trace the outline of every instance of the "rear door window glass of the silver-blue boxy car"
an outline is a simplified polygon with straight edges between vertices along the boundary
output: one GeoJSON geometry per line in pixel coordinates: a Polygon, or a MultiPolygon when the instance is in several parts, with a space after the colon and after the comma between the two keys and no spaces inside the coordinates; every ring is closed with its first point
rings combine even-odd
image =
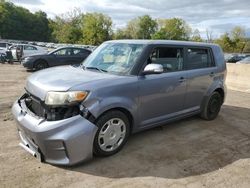
{"type": "Polygon", "coordinates": [[[188,48],[187,58],[187,69],[201,69],[214,66],[209,49],[188,48]]]}

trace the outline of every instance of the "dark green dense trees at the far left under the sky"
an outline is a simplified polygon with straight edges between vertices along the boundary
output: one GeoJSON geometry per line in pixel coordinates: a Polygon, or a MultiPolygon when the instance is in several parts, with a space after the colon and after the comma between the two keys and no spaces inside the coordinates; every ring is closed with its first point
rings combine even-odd
{"type": "Polygon", "coordinates": [[[0,25],[0,37],[5,39],[48,41],[51,34],[46,13],[32,14],[4,0],[0,1],[0,25]]]}

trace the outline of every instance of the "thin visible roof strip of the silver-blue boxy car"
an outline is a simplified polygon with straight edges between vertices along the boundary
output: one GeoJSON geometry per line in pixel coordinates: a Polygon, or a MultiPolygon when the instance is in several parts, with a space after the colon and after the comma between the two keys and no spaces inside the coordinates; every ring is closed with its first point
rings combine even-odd
{"type": "Polygon", "coordinates": [[[213,43],[204,43],[204,42],[191,42],[191,41],[177,41],[177,40],[110,40],[105,43],[127,43],[127,44],[145,44],[145,45],[151,45],[151,44],[168,44],[168,45],[187,45],[187,46],[218,46],[217,44],[213,43]]]}

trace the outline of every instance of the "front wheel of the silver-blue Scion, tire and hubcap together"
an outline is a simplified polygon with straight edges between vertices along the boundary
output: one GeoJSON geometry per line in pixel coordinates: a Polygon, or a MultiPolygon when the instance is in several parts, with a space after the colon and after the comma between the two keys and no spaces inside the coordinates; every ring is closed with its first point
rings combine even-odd
{"type": "Polygon", "coordinates": [[[118,110],[109,111],[98,118],[96,125],[98,131],[94,139],[94,154],[109,156],[120,151],[130,132],[127,116],[118,110]]]}

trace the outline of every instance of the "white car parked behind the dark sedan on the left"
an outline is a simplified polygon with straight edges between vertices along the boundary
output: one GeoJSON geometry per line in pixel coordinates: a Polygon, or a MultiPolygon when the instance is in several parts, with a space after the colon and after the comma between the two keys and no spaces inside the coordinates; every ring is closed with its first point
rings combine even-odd
{"type": "Polygon", "coordinates": [[[22,57],[35,55],[35,54],[48,53],[48,50],[46,48],[43,48],[43,47],[34,46],[34,45],[30,45],[30,44],[14,44],[9,48],[14,60],[18,59],[17,48],[20,48],[22,50],[22,57]]]}

